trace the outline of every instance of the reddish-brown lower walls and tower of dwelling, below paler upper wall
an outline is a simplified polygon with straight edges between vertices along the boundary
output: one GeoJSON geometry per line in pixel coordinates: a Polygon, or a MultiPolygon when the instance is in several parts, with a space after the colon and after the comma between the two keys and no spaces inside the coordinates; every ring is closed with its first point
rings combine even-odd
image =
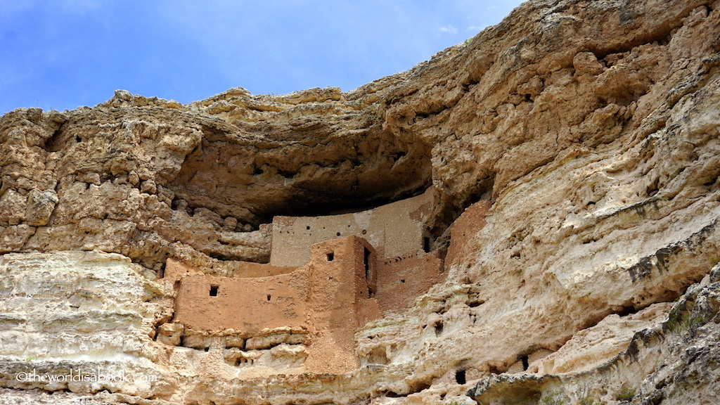
{"type": "Polygon", "coordinates": [[[365,239],[348,236],[313,245],[305,266],[248,263],[235,277],[204,275],[168,259],[165,278],[177,287],[174,321],[196,331],[235,329],[245,337],[300,326],[310,333],[305,370],[346,373],[359,366],[354,335],[360,326],[382,311],[404,310],[444,277],[437,252],[378,255],[365,239]],[[262,277],[274,272],[282,274],[262,277]],[[217,296],[210,295],[212,286],[217,296]]]}

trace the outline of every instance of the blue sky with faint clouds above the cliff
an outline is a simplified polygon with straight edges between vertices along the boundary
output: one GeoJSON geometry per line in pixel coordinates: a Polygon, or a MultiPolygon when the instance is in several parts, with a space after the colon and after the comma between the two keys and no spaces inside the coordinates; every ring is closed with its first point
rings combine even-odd
{"type": "Polygon", "coordinates": [[[520,0],[0,0],[0,114],[115,89],[188,103],[349,91],[500,22],[520,0]]]}

